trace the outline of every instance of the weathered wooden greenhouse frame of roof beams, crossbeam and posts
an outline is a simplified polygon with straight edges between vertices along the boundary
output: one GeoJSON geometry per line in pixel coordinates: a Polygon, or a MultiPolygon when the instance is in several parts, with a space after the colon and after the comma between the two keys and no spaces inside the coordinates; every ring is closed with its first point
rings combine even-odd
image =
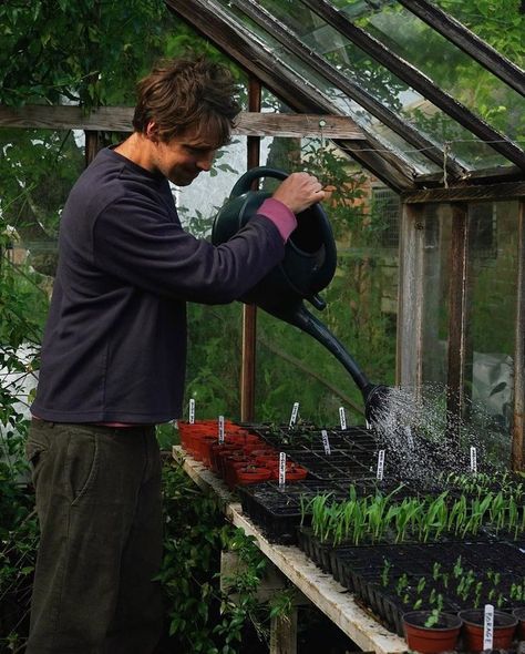
{"type": "MultiPolygon", "coordinates": [[[[444,35],[466,55],[498,78],[516,93],[525,95],[525,72],[503,58],[471,31],[428,0],[399,0],[400,3],[433,30],[444,35]]],[[[329,0],[300,0],[326,24],[352,42],[374,61],[391,71],[411,89],[433,103],[444,114],[467,130],[480,142],[490,144],[508,165],[467,170],[446,146],[430,141],[399,114],[379,102],[359,82],[350,79],[322,55],[317,54],[297,34],[271,16],[256,0],[231,0],[228,4],[243,12],[250,23],[271,33],[279,52],[289,53],[321,75],[333,88],[369,112],[382,125],[398,134],[439,167],[439,173],[419,173],[405,157],[372,130],[344,115],[321,90],[301,78],[284,61],[276,49],[265,45],[255,32],[220,0],[165,0],[166,6],[197,32],[210,40],[249,75],[249,111],[241,114],[238,134],[248,136],[248,167],[259,163],[261,136],[323,135],[354,161],[372,172],[402,202],[400,239],[400,284],[397,343],[397,381],[420,387],[423,382],[422,350],[424,337],[425,269],[424,224],[429,205],[450,205],[452,212],[452,244],[449,287],[449,410],[462,413],[465,403],[465,369],[472,355],[469,347],[470,293],[470,206],[472,203],[515,200],[518,202],[516,320],[514,330],[514,406],[512,468],[525,469],[525,150],[505,134],[472,113],[426,75],[352,22],[329,0]],[[296,114],[261,114],[261,88],[267,88],[292,109],[296,114]]],[[[76,106],[0,108],[0,126],[81,129],[86,134],[86,160],[99,147],[99,131],[131,130],[132,110],[100,108],[84,115],[76,106]]],[[[244,307],[241,419],[254,418],[255,406],[255,308],[244,307]]]]}

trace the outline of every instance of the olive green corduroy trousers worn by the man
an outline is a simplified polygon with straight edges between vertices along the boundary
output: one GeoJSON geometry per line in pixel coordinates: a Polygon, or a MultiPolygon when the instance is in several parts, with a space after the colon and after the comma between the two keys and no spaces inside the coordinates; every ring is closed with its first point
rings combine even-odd
{"type": "Polygon", "coordinates": [[[27,654],[151,654],[162,631],[154,427],[33,420],[41,542],[27,654]]]}

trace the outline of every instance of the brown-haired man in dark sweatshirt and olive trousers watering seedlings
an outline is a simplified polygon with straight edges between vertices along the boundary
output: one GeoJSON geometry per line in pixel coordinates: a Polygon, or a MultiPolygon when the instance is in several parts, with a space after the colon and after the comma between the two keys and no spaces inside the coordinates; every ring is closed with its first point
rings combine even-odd
{"type": "MultiPolygon", "coordinates": [[[[185,233],[184,186],[228,142],[220,65],[178,60],[138,85],[133,134],[99,153],[61,218],[27,453],[41,545],[27,654],[148,654],[161,630],[154,426],[181,416],[186,302],[228,303],[284,256],[321,184],[290,175],[227,244],[185,233]]],[[[205,193],[205,190],[203,190],[205,193]]]]}

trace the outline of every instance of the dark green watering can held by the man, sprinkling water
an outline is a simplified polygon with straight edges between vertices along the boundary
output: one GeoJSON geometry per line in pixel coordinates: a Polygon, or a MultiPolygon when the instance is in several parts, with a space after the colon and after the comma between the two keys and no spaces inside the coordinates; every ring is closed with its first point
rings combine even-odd
{"type": "MultiPolygon", "coordinates": [[[[282,181],[288,177],[288,173],[266,166],[250,168],[245,173],[215,217],[212,231],[214,245],[229,241],[257,213],[262,202],[271,196],[266,191],[251,190],[253,183],[261,177],[282,181]]],[[[308,300],[318,310],[326,307],[318,293],[330,284],[337,266],[336,241],[330,222],[320,204],[310,206],[296,217],[297,228],[285,246],[282,262],[240,300],[255,304],[276,318],[298,327],[331,351],[360,389],[367,420],[373,422],[379,417],[388,388],[369,381],[342,344],[303,303],[308,300]]]]}

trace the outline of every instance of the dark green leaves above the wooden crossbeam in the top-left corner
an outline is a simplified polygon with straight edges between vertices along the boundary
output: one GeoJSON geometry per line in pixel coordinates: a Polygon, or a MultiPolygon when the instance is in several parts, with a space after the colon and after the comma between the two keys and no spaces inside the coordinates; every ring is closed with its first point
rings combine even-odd
{"type": "Polygon", "coordinates": [[[144,55],[159,53],[168,19],[156,0],[3,3],[0,102],[58,104],[65,96],[97,106],[123,86],[131,100],[144,55]]]}

